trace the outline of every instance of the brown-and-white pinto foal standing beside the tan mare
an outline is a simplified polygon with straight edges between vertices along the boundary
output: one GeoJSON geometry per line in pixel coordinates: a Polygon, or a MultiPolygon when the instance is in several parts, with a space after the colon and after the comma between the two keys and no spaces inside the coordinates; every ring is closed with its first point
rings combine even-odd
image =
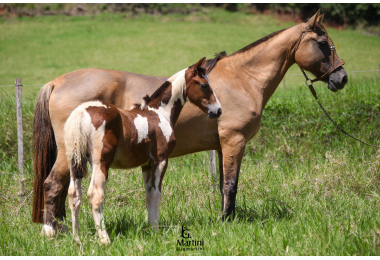
{"type": "Polygon", "coordinates": [[[141,166],[148,221],[157,226],[162,179],[169,154],[176,143],[173,127],[184,103],[189,100],[211,118],[217,118],[222,113],[202,67],[205,61],[202,58],[176,73],[151,97],[146,96],[141,105],[135,105],[129,111],[100,101],[90,101],[70,114],[64,131],[70,165],[68,194],[75,239],[79,234],[81,180],[86,173],[87,160],[92,167],[87,196],[101,243],[110,243],[102,213],[110,167],[129,169],[141,166]]]}

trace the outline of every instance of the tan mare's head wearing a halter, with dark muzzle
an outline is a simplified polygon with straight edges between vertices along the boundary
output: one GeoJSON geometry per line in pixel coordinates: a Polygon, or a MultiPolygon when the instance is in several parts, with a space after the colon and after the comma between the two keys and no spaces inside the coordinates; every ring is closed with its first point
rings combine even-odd
{"type": "Polygon", "coordinates": [[[328,88],[336,92],[343,89],[348,81],[344,61],[335,50],[332,39],[322,26],[323,14],[319,11],[306,23],[301,24],[301,36],[295,46],[294,60],[303,70],[310,71],[318,80],[328,83],[328,88]]]}

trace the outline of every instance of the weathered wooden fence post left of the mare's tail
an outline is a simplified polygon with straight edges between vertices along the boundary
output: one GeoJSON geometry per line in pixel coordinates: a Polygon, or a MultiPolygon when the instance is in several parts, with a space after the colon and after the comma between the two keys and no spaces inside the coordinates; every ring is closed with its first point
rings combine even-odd
{"type": "Polygon", "coordinates": [[[21,79],[16,79],[16,111],[17,111],[17,146],[18,146],[18,169],[19,174],[19,196],[24,196],[24,138],[22,129],[22,98],[21,98],[21,79]]]}

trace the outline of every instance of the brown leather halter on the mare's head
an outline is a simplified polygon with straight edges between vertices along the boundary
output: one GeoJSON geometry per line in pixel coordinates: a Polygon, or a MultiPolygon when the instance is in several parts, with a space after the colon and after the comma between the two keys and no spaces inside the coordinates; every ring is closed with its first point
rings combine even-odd
{"type": "MultiPolygon", "coordinates": [[[[336,53],[336,50],[335,50],[335,45],[334,45],[334,42],[332,41],[332,39],[329,37],[329,35],[327,34],[327,31],[326,29],[323,27],[323,25],[321,24],[316,24],[315,26],[318,26],[318,28],[323,32],[324,36],[327,38],[327,42],[329,43],[330,45],[330,51],[331,51],[331,56],[332,56],[332,62],[330,63],[331,64],[331,68],[325,72],[322,76],[319,76],[315,79],[309,79],[308,77],[306,77],[306,85],[310,85],[311,83],[313,82],[316,82],[316,81],[319,81],[319,80],[322,80],[324,79],[325,77],[327,77],[328,75],[331,74],[331,72],[333,72],[336,68],[340,67],[340,66],[343,66],[344,65],[344,60],[339,58],[338,54],[336,53]],[[335,59],[338,59],[339,63],[334,65],[335,63],[335,59]],[[310,83],[308,82],[310,81],[310,83]]],[[[296,42],[296,45],[295,45],[295,50],[294,50],[294,55],[295,53],[297,52],[298,50],[298,47],[300,46],[301,44],[301,41],[302,39],[304,38],[305,34],[308,33],[308,32],[313,32],[312,29],[305,29],[304,28],[304,24],[301,24],[301,37],[297,40],[296,42]]],[[[295,59],[294,59],[295,60],[295,59]]],[[[297,63],[298,67],[300,67],[302,73],[304,75],[306,75],[305,71],[301,68],[301,66],[297,63]]]]}

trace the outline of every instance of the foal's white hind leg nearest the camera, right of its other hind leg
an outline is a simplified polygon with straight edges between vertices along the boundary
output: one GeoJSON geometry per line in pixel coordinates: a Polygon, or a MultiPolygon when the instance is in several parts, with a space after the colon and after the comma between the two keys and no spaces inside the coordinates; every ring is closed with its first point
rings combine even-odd
{"type": "Polygon", "coordinates": [[[103,217],[103,200],[104,190],[106,187],[106,174],[108,174],[108,169],[106,173],[103,172],[100,162],[93,163],[91,182],[87,192],[87,196],[92,205],[92,214],[94,216],[95,227],[98,231],[101,244],[111,243],[103,217]]]}

